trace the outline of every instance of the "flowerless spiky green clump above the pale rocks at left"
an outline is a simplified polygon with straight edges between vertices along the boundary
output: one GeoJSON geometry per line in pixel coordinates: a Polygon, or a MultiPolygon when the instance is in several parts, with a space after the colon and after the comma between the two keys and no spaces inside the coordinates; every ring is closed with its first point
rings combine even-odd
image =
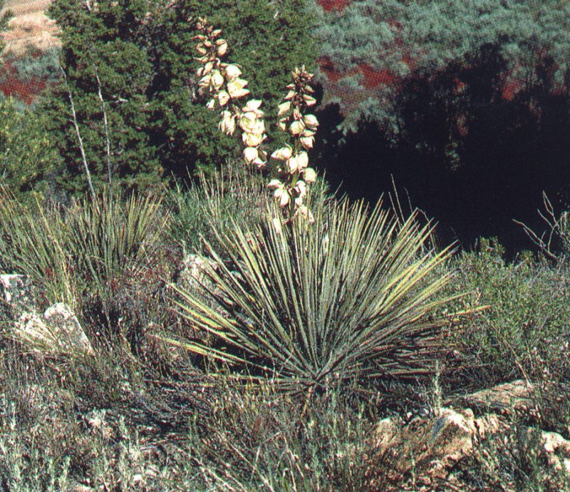
{"type": "Polygon", "coordinates": [[[168,215],[162,198],[107,195],[69,207],[27,207],[3,190],[0,265],[29,275],[46,302],[78,307],[86,294],[107,299],[125,275],[149,269],[168,215]]]}

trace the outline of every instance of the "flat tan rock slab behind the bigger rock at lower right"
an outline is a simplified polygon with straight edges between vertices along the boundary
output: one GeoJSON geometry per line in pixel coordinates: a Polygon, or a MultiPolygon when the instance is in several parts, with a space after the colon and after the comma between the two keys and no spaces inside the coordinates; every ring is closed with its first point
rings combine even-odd
{"type": "Polygon", "coordinates": [[[534,409],[534,388],[532,384],[519,379],[464,396],[462,401],[470,408],[501,415],[511,415],[513,412],[528,414],[534,409]]]}

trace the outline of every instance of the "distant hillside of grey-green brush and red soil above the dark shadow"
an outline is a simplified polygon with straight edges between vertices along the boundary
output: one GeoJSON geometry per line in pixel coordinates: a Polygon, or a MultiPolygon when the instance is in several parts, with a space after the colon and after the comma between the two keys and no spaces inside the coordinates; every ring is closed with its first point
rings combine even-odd
{"type": "Polygon", "coordinates": [[[544,56],[554,61],[557,88],[569,68],[567,0],[359,0],[341,14],[318,12],[321,81],[326,101],[341,105],[344,130],[364,117],[398,134],[400,83],[467,63],[484,46],[497,46],[508,62],[496,81],[507,98],[537,80],[544,56]]]}

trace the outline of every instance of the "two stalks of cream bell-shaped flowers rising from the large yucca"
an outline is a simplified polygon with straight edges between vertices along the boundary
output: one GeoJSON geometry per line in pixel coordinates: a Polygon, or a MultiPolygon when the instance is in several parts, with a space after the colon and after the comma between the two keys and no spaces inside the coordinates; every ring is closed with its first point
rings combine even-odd
{"type": "MultiPolygon", "coordinates": [[[[242,78],[242,67],[237,63],[225,63],[228,44],[219,38],[221,29],[214,29],[207,24],[207,19],[198,18],[196,23],[200,32],[194,39],[201,55],[196,58],[202,64],[197,70],[199,90],[209,94],[207,108],[222,108],[218,128],[227,135],[233,135],[236,128],[242,130],[244,143],[243,156],[248,165],[265,168],[267,152],[263,143],[265,133],[264,113],[259,108],[261,101],[251,99],[242,106],[240,99],[249,95],[248,82],[242,78]]],[[[271,154],[275,160],[278,178],[272,179],[268,186],[274,190],[274,196],[284,210],[287,220],[301,216],[314,222],[311,211],[306,206],[308,185],[316,180],[316,172],[309,168],[309,155],[306,150],[313,147],[318,121],[313,114],[305,114],[307,108],[316,104],[314,93],[309,85],[314,74],[306,71],[305,66],[295,68],[291,73],[293,83],[286,86],[288,92],[284,102],[279,104],[279,129],[287,132],[291,145],[279,148],[271,154]]]]}

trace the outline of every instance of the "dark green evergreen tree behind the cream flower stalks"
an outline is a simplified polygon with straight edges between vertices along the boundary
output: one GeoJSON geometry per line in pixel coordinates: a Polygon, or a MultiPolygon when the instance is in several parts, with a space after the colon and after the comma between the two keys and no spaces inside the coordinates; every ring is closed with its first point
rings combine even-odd
{"type": "Polygon", "coordinates": [[[197,165],[220,165],[239,151],[219,135],[217,114],[197,100],[190,18],[210,16],[224,29],[232,61],[253,74],[252,96],[267,102],[267,113],[276,113],[292,68],[316,58],[303,0],[102,0],[92,6],[55,0],[49,15],[62,29],[67,85],[62,80],[41,109],[58,142],[59,182],[70,193],[85,190],[86,180],[69,91],[95,185],[106,179],[96,75],[109,121],[113,176],[125,188],[148,188],[163,174],[185,176],[197,165]]]}

